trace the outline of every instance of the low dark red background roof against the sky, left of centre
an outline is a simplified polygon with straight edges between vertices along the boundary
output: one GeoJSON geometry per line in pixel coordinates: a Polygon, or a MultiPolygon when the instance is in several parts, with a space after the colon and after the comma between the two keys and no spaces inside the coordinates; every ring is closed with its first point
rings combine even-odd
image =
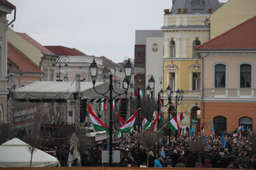
{"type": "Polygon", "coordinates": [[[55,55],[69,55],[69,56],[86,55],[75,48],[68,48],[66,46],[44,46],[44,47],[47,48],[52,53],[54,53],[55,55]]]}

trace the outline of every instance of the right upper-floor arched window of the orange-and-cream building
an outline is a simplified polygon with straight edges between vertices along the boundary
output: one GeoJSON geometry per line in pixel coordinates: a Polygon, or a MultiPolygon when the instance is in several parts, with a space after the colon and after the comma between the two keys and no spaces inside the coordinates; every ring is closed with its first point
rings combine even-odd
{"type": "Polygon", "coordinates": [[[240,65],[240,88],[251,87],[251,65],[244,63],[240,65]]]}

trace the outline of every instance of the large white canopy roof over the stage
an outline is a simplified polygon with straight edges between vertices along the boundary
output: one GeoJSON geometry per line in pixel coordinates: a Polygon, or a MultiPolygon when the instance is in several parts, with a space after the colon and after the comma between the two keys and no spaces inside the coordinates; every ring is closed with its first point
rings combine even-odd
{"type": "MultiPolygon", "coordinates": [[[[73,99],[76,92],[75,82],[61,82],[61,81],[38,81],[19,87],[13,91],[15,99],[73,99]]],[[[105,93],[109,88],[109,84],[105,82],[97,82],[95,89],[100,93],[105,93]]],[[[93,89],[92,82],[81,82],[81,98],[105,98],[97,94],[93,89]]],[[[125,92],[123,89],[114,87],[117,93],[125,92]]],[[[110,96],[108,91],[106,96],[110,96]]],[[[113,92],[113,97],[116,93],[113,92]]],[[[118,98],[125,98],[125,94],[118,96],[118,98]]]]}

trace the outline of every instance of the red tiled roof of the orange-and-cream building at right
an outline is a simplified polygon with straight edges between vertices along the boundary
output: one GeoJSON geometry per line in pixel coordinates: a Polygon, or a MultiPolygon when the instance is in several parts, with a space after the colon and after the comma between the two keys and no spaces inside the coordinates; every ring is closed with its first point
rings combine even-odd
{"type": "Polygon", "coordinates": [[[256,16],[198,46],[198,50],[256,49],[256,16]]]}

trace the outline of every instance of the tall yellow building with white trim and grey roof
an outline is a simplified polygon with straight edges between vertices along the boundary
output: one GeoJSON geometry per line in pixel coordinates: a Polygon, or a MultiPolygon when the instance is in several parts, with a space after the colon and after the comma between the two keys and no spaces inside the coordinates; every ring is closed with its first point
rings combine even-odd
{"type": "MultiPolygon", "coordinates": [[[[183,89],[184,96],[177,107],[177,114],[187,111],[182,126],[198,125],[200,121],[201,60],[196,56],[195,48],[209,40],[209,26],[206,20],[222,3],[218,0],[172,0],[172,9],[164,10],[164,83],[173,91],[172,103],[175,103],[176,91],[183,89]]],[[[180,101],[180,100],[179,100],[180,101]]],[[[164,104],[168,96],[164,94],[164,104]]],[[[175,108],[172,109],[175,111],[175,108]]],[[[172,111],[172,113],[173,113],[172,111]]],[[[168,117],[167,114],[165,114],[168,117]]]]}

